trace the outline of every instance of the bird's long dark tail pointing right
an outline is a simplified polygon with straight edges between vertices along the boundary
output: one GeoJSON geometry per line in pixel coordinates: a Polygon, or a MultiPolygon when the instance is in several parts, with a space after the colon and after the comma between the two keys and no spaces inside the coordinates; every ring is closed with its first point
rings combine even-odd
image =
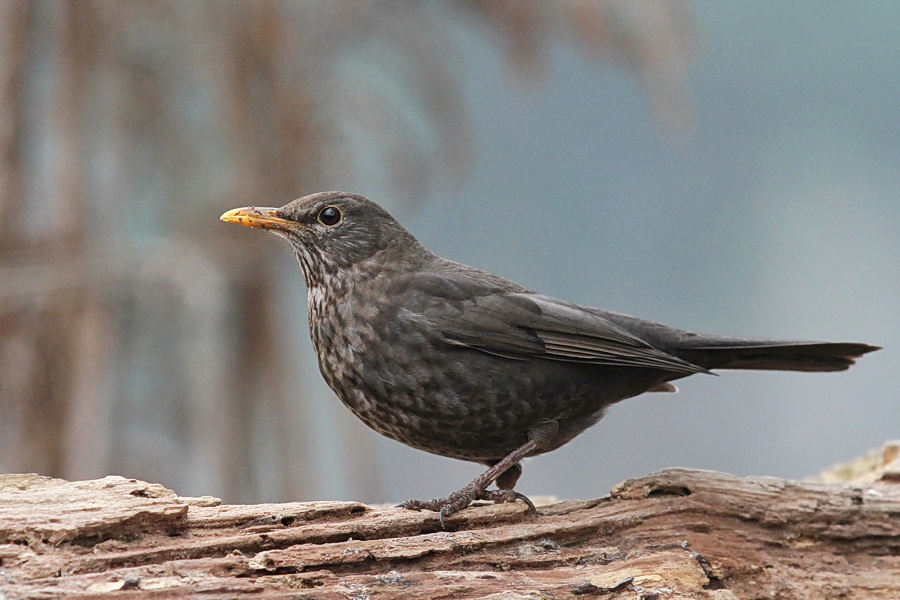
{"type": "Polygon", "coordinates": [[[742,338],[681,340],[678,356],[707,369],[844,371],[878,346],[857,343],[791,342],[742,338]]]}

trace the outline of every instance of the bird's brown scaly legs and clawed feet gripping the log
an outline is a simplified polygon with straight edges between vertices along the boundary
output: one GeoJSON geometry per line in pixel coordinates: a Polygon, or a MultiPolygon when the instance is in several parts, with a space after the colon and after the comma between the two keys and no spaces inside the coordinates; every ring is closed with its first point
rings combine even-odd
{"type": "Polygon", "coordinates": [[[461,490],[457,490],[446,498],[435,500],[407,500],[400,505],[410,510],[433,510],[440,512],[441,526],[444,519],[453,513],[465,508],[475,500],[492,500],[494,502],[515,502],[521,500],[528,505],[529,511],[534,511],[534,504],[524,494],[512,489],[522,467],[519,461],[541,448],[555,434],[558,425],[555,421],[535,427],[528,432],[528,441],[507,454],[503,459],[494,463],[487,471],[473,479],[461,490]],[[507,475],[507,472],[510,472],[507,475]],[[503,489],[488,490],[487,487],[497,479],[501,480],[503,489]]]}

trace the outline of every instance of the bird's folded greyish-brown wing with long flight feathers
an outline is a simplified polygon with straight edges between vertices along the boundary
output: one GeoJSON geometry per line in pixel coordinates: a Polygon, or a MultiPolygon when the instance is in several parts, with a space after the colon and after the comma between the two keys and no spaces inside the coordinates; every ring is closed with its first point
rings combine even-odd
{"type": "Polygon", "coordinates": [[[429,273],[411,283],[404,307],[454,345],[521,360],[706,371],[652,347],[595,311],[518,286],[510,291],[499,278],[429,273]]]}

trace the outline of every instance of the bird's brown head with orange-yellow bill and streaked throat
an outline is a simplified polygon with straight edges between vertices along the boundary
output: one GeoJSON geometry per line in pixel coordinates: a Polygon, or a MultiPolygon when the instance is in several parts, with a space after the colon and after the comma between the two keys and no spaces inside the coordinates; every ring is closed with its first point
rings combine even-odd
{"type": "Polygon", "coordinates": [[[345,192],[311,194],[281,208],[235,208],[220,219],[287,239],[310,286],[380,253],[401,262],[427,253],[386,210],[345,192]]]}

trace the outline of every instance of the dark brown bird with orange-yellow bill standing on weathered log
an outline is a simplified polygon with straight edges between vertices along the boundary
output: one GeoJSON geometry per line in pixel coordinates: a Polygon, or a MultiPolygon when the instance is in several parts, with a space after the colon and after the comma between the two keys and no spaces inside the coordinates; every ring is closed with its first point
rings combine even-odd
{"type": "Polygon", "coordinates": [[[515,491],[521,461],[563,446],[621,400],[718,369],[843,371],[880,349],[704,335],[566,302],[441,258],[346,192],[220,219],[288,241],[319,370],[350,411],[388,438],[488,467],[447,497],[400,505],[436,511],[442,525],[476,500],[534,512],[515,491]]]}

